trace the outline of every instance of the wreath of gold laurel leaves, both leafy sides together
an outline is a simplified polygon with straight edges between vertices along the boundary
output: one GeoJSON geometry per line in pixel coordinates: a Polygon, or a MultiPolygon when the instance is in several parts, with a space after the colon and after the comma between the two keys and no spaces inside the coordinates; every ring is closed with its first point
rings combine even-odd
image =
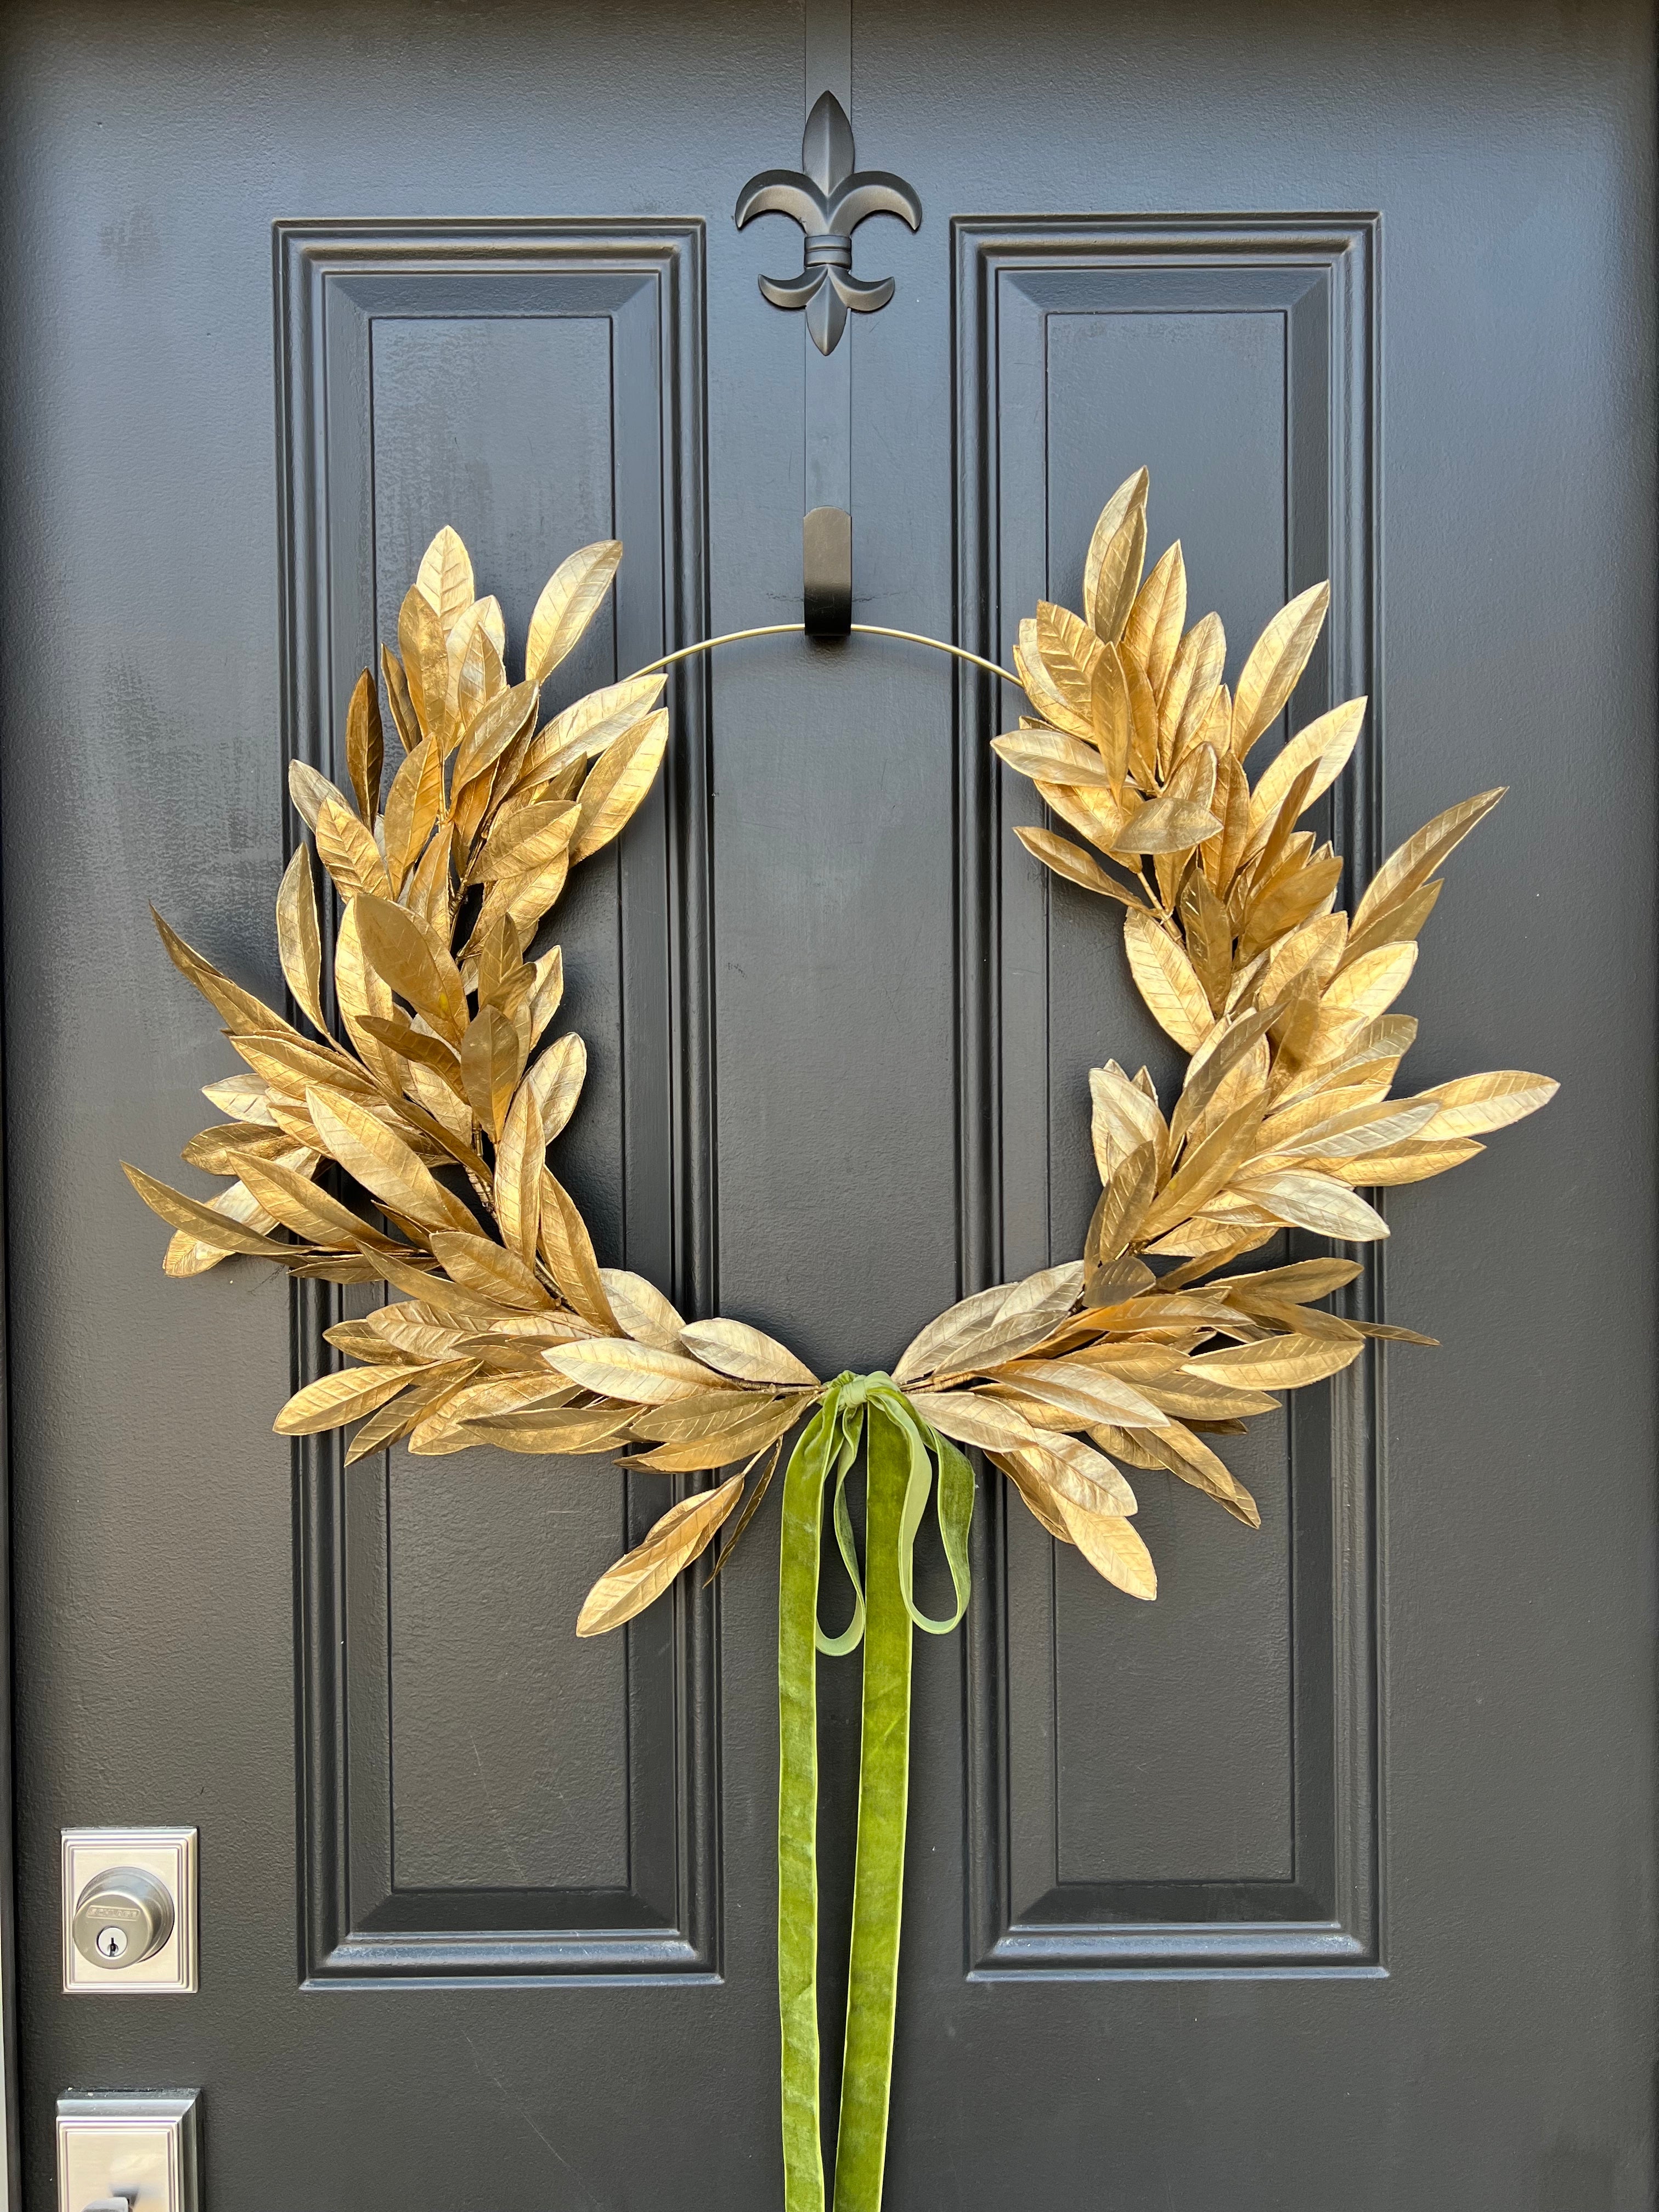
{"type": "MultiPolygon", "coordinates": [[[[1391,1095],[1416,1022],[1389,1006],[1440,894],[1436,869],[1502,792],[1436,816],[1352,918],[1336,911],[1343,863],[1298,823],[1343,772],[1365,701],[1292,737],[1254,787],[1245,772],[1296,688],[1329,588],[1274,615],[1230,692],[1219,617],[1186,628],[1179,542],[1141,582],[1146,489],[1141,469],[1099,518],[1084,615],[1042,604],[1020,624],[1033,714],[995,750],[1086,841],[1018,830],[1029,852],[1126,907],[1141,998],[1190,1053],[1181,1095],[1166,1119],[1146,1068],[1095,1068],[1102,1194],[1082,1259],[975,1292],[891,1371],[933,1431],[980,1447],[1053,1537],[1135,1597],[1152,1597],[1157,1577],[1119,1462],[1179,1475],[1256,1526],[1210,1438],[1276,1411],[1274,1391],[1347,1367],[1367,1336],[1431,1343],[1325,1310],[1360,1272],[1352,1259],[1223,1270],[1287,1228],[1387,1237],[1360,1188],[1440,1175],[1555,1091],[1542,1075],[1493,1073],[1391,1095]],[[1159,1274],[1152,1261],[1175,1265],[1159,1274]]],[[[542,1042],[564,969],[557,947],[531,949],[571,867],[646,796],[668,739],[661,668],[540,723],[542,688],[619,557],[619,544],[593,544],[557,568],[531,617],[524,679],[509,684],[498,602],[476,597],[456,531],[434,538],[398,615],[400,650],[380,655],[403,750],[385,803],[367,670],[347,714],[349,792],[303,763],[290,770],[341,909],[330,993],[301,841],[276,942],[312,1035],[157,916],[243,1062],[206,1086],[230,1119],[184,1150],[232,1181],[204,1201],[126,1168],[175,1230],[168,1274],[248,1254],[403,1294],[327,1329],[358,1365],[296,1391],[276,1418],[283,1436],[363,1420],[347,1464],[407,1440],[414,1453],[622,1453],[619,1464],[668,1478],[739,1469],[672,1504],[602,1575],[577,1635],[659,1597],[759,1467],[723,1566],[783,1438],[832,1389],[763,1332],[686,1323],[641,1276],[599,1267],[546,1166],[586,1048],[571,1031],[542,1042]],[[334,1188],[319,1181],[330,1166],[334,1188]]]]}

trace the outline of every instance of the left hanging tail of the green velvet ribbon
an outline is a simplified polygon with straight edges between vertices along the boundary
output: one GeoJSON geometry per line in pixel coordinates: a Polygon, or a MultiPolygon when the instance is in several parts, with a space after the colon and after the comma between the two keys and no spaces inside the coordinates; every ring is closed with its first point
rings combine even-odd
{"type": "Polygon", "coordinates": [[[818,2106],[818,1546],[841,1447],[841,1391],[807,1422],[783,1475],[779,1544],[779,2028],[783,2208],[823,2212],[818,2106]]]}

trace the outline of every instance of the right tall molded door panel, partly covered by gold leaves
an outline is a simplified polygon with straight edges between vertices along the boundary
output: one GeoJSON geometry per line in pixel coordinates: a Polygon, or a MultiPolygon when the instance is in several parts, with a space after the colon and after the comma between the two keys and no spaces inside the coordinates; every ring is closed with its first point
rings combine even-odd
{"type": "MultiPolygon", "coordinates": [[[[1079,411],[1113,414],[1113,376],[1141,378],[1144,394],[1121,414],[1137,436],[1159,420],[1152,380],[1175,365],[1175,383],[1210,394],[1232,451],[1276,451],[1265,549],[1237,524],[1239,571],[1274,557],[1283,575],[1265,613],[1283,597],[1332,580],[1332,617],[1321,653],[1296,695],[1296,726],[1338,699],[1371,699],[1360,765],[1329,803],[1329,834],[1363,883],[1378,860],[1383,732],[1378,703],[1378,507],[1376,507],[1376,345],[1378,219],[1369,215],[1272,217],[971,217],[953,223],[956,465],[958,465],[958,637],[1006,664],[1020,613],[1040,597],[1071,599],[1082,560],[1073,487],[1055,478],[1079,467],[1079,411]],[[1124,319],[1152,319],[1126,323],[1124,319]],[[1188,321],[1172,321],[1188,319],[1188,321]],[[1228,321],[1219,321],[1228,319],[1228,321]],[[1210,356],[1206,356],[1206,347],[1210,356]],[[1079,367],[1082,363],[1082,367],[1079,367]],[[1208,378],[1208,383],[1206,383],[1208,378]],[[1071,389],[1066,389],[1071,380],[1071,389]],[[1254,398],[1250,398],[1254,394],[1254,398]],[[1237,416],[1259,418],[1241,434],[1237,416]],[[1071,409],[1066,414],[1066,409],[1071,409]],[[1071,436],[1051,425],[1064,418],[1071,436]],[[1279,513],[1272,513],[1281,504],[1279,513]],[[1279,533],[1274,551],[1272,535],[1279,533]],[[1265,560],[1263,560],[1265,551],[1265,560]],[[1248,557],[1245,557],[1248,555],[1248,557]],[[1051,573],[1055,571],[1055,573],[1051,573]]],[[[1164,414],[1170,416],[1168,400],[1164,414]]],[[[1175,418],[1170,416],[1170,422],[1175,418]]],[[[1194,422],[1201,436],[1203,425],[1194,422]]],[[[1093,436],[1093,431],[1091,431],[1093,436]]],[[[1099,484],[1108,489],[1135,462],[1155,462],[1155,491],[1179,473],[1155,453],[1119,451],[1110,420],[1097,434],[1099,484]]],[[[1170,429],[1172,453],[1179,438],[1170,429]]],[[[1088,467],[1082,469],[1088,476],[1088,467]]],[[[1091,476],[1091,491],[1097,489],[1091,476]]],[[[1206,489],[1201,493],[1210,498],[1206,489]]],[[[1214,500],[1225,500],[1214,491],[1214,500]]],[[[1097,504],[1097,498],[1095,498],[1097,504]]],[[[1093,520],[1093,513],[1091,518],[1093,520]]],[[[1170,520],[1194,518],[1164,507],[1157,546],[1170,520]]],[[[1214,542],[1203,529],[1194,544],[1214,542]]],[[[1192,615],[1212,604],[1214,580],[1194,577],[1192,615]]],[[[1239,664],[1254,628],[1232,639],[1239,664]]],[[[1088,960],[1115,945],[1086,894],[1055,887],[1009,834],[1040,821],[1026,785],[1000,774],[987,739],[1000,701],[980,677],[960,688],[960,1097],[962,1097],[962,1281],[993,1283],[1051,1265],[1075,1250],[1066,1183],[1082,1144],[1073,1071],[1055,1082],[1055,1053],[1077,1004],[1108,1020],[1088,1022],[1086,1048],[1137,1053],[1133,1000],[1110,1002],[1115,984],[1079,982],[1064,962],[1073,931],[1086,931],[1088,960]],[[1088,905],[1091,911],[1082,914],[1088,905]],[[1082,918],[1079,918],[1082,916],[1082,918]],[[1044,984],[1033,987],[1042,978],[1044,984]],[[1128,1033],[1124,1031],[1128,1024],[1128,1033]],[[1106,1033],[1097,1033],[1104,1029],[1106,1033]],[[1057,1139],[1057,1141],[1051,1141],[1057,1139]]],[[[1082,942],[1082,938],[1079,938],[1082,942]]],[[[1157,1040],[1146,1046],[1157,1066],[1157,1040]]],[[[1133,1057],[1130,1057],[1133,1064],[1133,1057]]],[[[1166,1071],[1166,1073],[1172,1073],[1166,1071]]],[[[1084,1146],[1086,1150],[1086,1146],[1084,1146]]],[[[1380,1267],[1358,1285],[1354,1312],[1374,1314],[1380,1267]]],[[[1161,1509],[1157,1478],[1137,1475],[1144,1506],[1161,1509]]],[[[969,1613],[967,1657],[967,1960],[971,1975],[1119,1973],[1376,1973],[1383,1958],[1383,1869],[1378,1863],[1378,1544],[1383,1486],[1378,1365],[1367,1358],[1329,1389],[1298,1394],[1283,1460],[1263,1486],[1263,1535],[1283,1553],[1276,1637],[1283,1650],[1234,1652],[1261,1663],[1254,1725],[1265,1756],[1241,1763],[1239,1843],[1219,1818],[1228,1776],[1206,1796],[1194,1785],[1197,1834],[1135,1845],[1099,1836],[1102,1805],[1115,1778],[1113,1712],[1095,1683],[1077,1679],[1077,1657],[1099,1663],[1099,1639],[1124,1666],[1124,1699],[1150,1699],[1135,1677],[1133,1621],[1104,1606],[1086,1615],[1068,1597],[1066,1562],[1004,1486],[980,1515],[980,1579],[969,1613]],[[1068,1666],[1064,1621],[1084,1621],[1068,1666]],[[1075,1714],[1082,1712],[1082,1732],[1075,1714]],[[1066,1714],[1073,1736],[1066,1739],[1066,1714]],[[1263,1719],[1265,1714],[1265,1719],[1263,1719]],[[1093,1759],[1093,1767],[1091,1767],[1093,1759]],[[1206,1809],[1214,1834],[1206,1834],[1206,1809]],[[1091,1825],[1093,1823],[1093,1825],[1091,1825]],[[1175,1874],[1155,1856],[1183,1849],[1175,1874]],[[1228,1851],[1237,1863],[1228,1860],[1228,1851]],[[1117,1860],[1113,1854],[1117,1851],[1117,1860]],[[1128,1858],[1124,1858],[1128,1851],[1128,1858]],[[1206,1856],[1208,1854],[1208,1856],[1206,1856]]],[[[1197,1553],[1188,1568],[1183,1513],[1206,1511],[1181,1498],[1161,1531],[1168,1557],[1164,1608],[1201,1586],[1197,1553]],[[1175,1553],[1168,1551],[1175,1542],[1175,1553]]],[[[1241,1537],[1241,1531],[1225,1531],[1241,1537]]],[[[1243,1540],[1243,1537],[1241,1537],[1243,1540]]],[[[1121,1601],[1119,1601],[1121,1604],[1121,1601]]],[[[1201,1608],[1201,1590],[1194,1604],[1201,1608]]],[[[1252,1615],[1261,1619],[1256,1608],[1252,1615]]],[[[1259,1637],[1259,1630],[1254,1632],[1259,1637]]],[[[1210,1646],[1214,1657],[1221,1646],[1210,1646]]],[[[1186,1683],[1192,1699],[1225,1690],[1223,1668],[1186,1683]]],[[[1168,1681],[1168,1674],[1161,1679],[1168,1681]]],[[[1166,1697],[1181,1697],[1175,1683],[1166,1697]]],[[[1190,1719],[1192,1705],[1186,1717],[1190,1719]]],[[[1175,1730],[1183,1725],[1179,1708],[1175,1730]]],[[[1144,1717],[1146,1721],[1146,1717],[1144,1717]]],[[[1201,1725],[1201,1723],[1199,1723],[1201,1725]]],[[[1219,1725],[1219,1723],[1217,1723],[1219,1725]]],[[[1150,1721],[1146,1721],[1150,1730],[1150,1721]]],[[[1137,1739],[1141,1741],[1141,1739],[1137,1739]]],[[[1146,1734],[1146,1743],[1150,1743],[1146,1734]]],[[[1201,1734],[1194,1743],[1203,1743],[1201,1734]]],[[[1144,1745],[1141,1745],[1144,1747],[1144,1745]]],[[[1152,1763],[1159,1750],[1152,1747],[1152,1763]]],[[[1237,1756],[1237,1754],[1234,1754],[1237,1756]]],[[[1175,1781],[1175,1770],[1164,1781],[1175,1781]]],[[[1159,1772],[1139,1772],[1137,1790],[1157,1792],[1159,1772]]],[[[1234,1823],[1237,1825],[1237,1823],[1234,1823]]],[[[1179,1829],[1166,1803],[1159,1832],[1179,1829]]]]}

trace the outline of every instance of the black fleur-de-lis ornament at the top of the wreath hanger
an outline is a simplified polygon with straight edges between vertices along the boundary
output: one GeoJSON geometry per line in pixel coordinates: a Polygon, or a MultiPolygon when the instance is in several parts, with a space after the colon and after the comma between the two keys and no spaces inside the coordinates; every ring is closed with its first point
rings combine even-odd
{"type": "Polygon", "coordinates": [[[922,204],[880,168],[854,170],[852,124],[834,93],[823,93],[801,137],[801,168],[763,168],[737,195],[737,228],[757,215],[787,215],[805,232],[799,276],[761,276],[774,307],[805,307],[812,343],[832,354],[854,314],[874,314],[894,296],[894,279],[860,283],[852,274],[852,234],[869,215],[896,215],[922,226],[922,204]]]}

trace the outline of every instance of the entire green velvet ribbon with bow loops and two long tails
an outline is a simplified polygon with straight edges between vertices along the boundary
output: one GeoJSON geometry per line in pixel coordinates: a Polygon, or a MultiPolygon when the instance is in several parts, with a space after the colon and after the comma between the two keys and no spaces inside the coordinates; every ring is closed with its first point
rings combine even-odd
{"type": "Polygon", "coordinates": [[[911,1628],[947,1635],[969,1601],[973,1471],[885,1376],[843,1374],[801,1433],[783,1478],[779,1566],[779,2015],[783,2024],[783,2205],[825,2212],[818,2108],[818,1652],[863,1641],[858,1854],[852,1896],[847,2044],[841,2066],[834,2212],[878,2212],[894,2075],[898,1922],[909,1803],[911,1628]],[[865,1575],[847,1478],[865,1442],[865,1575]],[[956,1613],[916,1606],[916,1533],[933,1493],[956,1613]],[[852,1577],[841,1635],[818,1624],[823,1493],[834,1482],[836,1546],[852,1577]]]}

